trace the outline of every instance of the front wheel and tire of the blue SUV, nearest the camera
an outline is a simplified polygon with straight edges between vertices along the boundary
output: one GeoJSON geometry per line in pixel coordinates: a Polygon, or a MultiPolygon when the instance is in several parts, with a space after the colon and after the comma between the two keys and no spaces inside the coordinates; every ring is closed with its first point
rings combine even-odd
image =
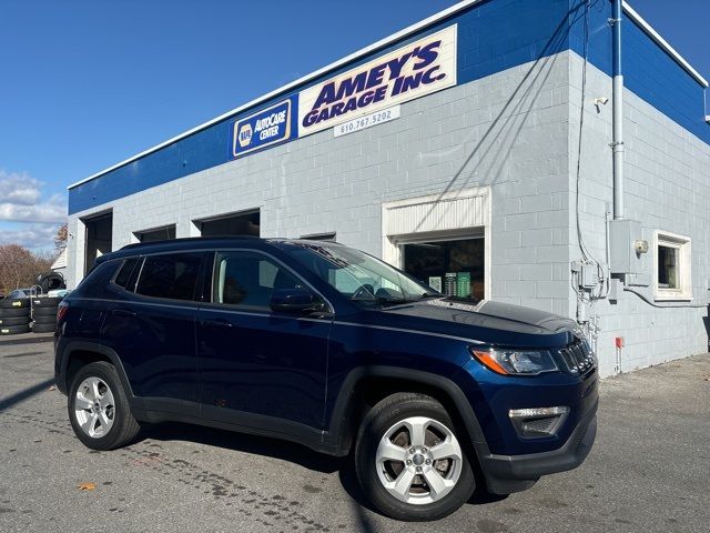
{"type": "Polygon", "coordinates": [[[367,413],[355,445],[355,470],[375,507],[403,521],[447,516],[476,489],[450,416],[424,394],[393,394],[367,413]]]}

